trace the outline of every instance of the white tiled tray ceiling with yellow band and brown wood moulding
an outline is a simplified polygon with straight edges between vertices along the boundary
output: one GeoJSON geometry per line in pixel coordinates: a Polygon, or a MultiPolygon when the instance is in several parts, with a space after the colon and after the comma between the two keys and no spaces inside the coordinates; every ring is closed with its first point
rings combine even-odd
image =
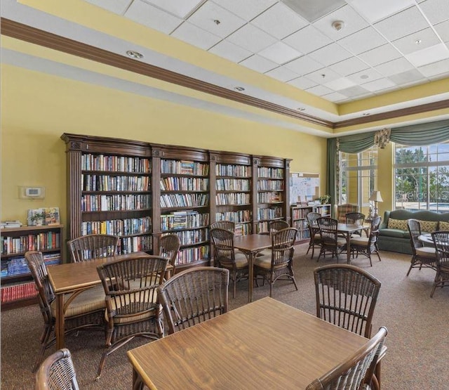
{"type": "Polygon", "coordinates": [[[3,0],[1,34],[2,64],[320,136],[449,117],[448,0],[3,0]]]}

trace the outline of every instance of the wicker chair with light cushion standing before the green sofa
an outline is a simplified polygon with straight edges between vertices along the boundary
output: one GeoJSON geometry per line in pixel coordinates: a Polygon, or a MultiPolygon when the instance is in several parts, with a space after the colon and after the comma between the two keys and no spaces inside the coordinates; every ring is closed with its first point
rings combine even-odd
{"type": "Polygon", "coordinates": [[[436,270],[436,249],[435,247],[425,247],[424,244],[418,240],[421,235],[421,223],[417,219],[409,219],[407,222],[408,232],[410,233],[410,246],[412,247],[412,259],[410,260],[410,267],[407,271],[407,276],[412,271],[412,268],[432,268],[436,270]]]}

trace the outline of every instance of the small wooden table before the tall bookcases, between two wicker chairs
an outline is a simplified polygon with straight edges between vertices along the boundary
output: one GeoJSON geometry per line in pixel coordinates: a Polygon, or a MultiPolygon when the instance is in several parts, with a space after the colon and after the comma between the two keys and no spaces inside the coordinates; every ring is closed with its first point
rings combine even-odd
{"type": "Polygon", "coordinates": [[[254,259],[262,250],[272,247],[272,236],[269,234],[248,234],[234,238],[234,248],[243,252],[248,259],[248,302],[253,301],[254,259]]]}

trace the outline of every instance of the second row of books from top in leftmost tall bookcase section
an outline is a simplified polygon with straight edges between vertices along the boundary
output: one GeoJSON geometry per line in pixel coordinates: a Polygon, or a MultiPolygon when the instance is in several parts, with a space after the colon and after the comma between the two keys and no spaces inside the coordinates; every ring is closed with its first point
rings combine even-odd
{"type": "Polygon", "coordinates": [[[149,176],[81,175],[83,191],[149,191],[149,176]]]}

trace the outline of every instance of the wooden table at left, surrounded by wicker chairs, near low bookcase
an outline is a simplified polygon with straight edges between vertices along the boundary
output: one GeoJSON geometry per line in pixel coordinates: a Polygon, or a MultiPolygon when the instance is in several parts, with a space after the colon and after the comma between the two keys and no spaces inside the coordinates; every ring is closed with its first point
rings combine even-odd
{"type": "MultiPolygon", "coordinates": [[[[64,329],[64,304],[65,294],[87,290],[91,287],[101,284],[97,267],[110,261],[120,259],[135,259],[140,256],[148,256],[146,252],[134,252],[130,254],[120,254],[112,257],[101,257],[89,261],[81,261],[79,263],[59,264],[47,268],[48,279],[50,280],[53,292],[56,297],[55,306],[55,335],[56,348],[61,349],[65,346],[64,329]]],[[[168,266],[168,271],[171,266],[168,266]]]]}

